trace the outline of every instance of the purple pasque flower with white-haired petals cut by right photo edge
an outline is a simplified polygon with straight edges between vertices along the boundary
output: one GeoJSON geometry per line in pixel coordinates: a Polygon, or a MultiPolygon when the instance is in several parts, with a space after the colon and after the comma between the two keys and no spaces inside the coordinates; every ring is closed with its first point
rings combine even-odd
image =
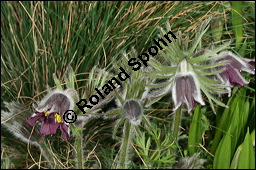
{"type": "Polygon", "coordinates": [[[217,70],[222,70],[216,75],[216,78],[227,86],[226,89],[229,91],[230,97],[232,86],[242,87],[249,83],[244,79],[241,71],[255,74],[255,60],[238,57],[230,51],[223,51],[219,55],[224,55],[224,57],[217,60],[217,63],[226,61],[227,64],[216,68],[217,70]]]}

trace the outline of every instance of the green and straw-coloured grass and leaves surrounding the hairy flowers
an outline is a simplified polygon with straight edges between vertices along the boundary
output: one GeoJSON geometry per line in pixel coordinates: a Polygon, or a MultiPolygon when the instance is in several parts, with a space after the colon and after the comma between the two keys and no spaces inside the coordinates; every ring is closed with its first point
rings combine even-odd
{"type": "MultiPolygon", "coordinates": [[[[124,50],[130,51],[132,47],[139,54],[144,52],[153,38],[157,38],[158,26],[164,27],[169,22],[174,33],[180,30],[192,39],[209,16],[213,17],[212,27],[203,37],[204,47],[211,42],[221,44],[233,40],[234,52],[255,58],[255,2],[1,1],[1,109],[4,109],[3,101],[31,107],[46,94],[47,85],[54,87],[52,74],[62,80],[68,65],[76,73],[81,92],[93,66],[109,69],[119,62],[124,50]]],[[[248,161],[255,155],[251,148],[255,145],[255,79],[245,76],[250,84],[235,89],[232,98],[223,99],[229,109],[218,107],[215,115],[206,106],[196,109],[193,115],[183,115],[179,152],[173,155],[176,161],[200,152],[206,168],[253,166],[248,161]],[[199,118],[193,117],[199,114],[199,118]],[[193,136],[198,134],[195,131],[201,135],[193,136]],[[188,142],[195,147],[188,149],[188,142]]],[[[163,134],[168,133],[165,125],[171,122],[173,113],[169,100],[170,96],[166,96],[146,111],[146,116],[163,134]]],[[[105,109],[110,107],[113,106],[110,104],[105,109]]],[[[85,125],[87,142],[83,147],[88,168],[111,167],[119,147],[111,138],[113,126],[114,120],[103,119],[93,119],[85,125]]],[[[3,128],[1,132],[2,168],[44,168],[37,148],[28,148],[3,128]]],[[[152,135],[151,138],[150,133],[146,135],[145,142],[154,138],[152,135]]],[[[63,167],[74,168],[72,153],[66,154],[72,145],[56,136],[47,140],[63,167]]],[[[143,142],[135,142],[137,152],[132,168],[145,168],[148,164],[154,168],[170,167],[168,162],[156,163],[153,157],[146,160],[149,156],[142,153],[146,146],[141,150],[143,147],[138,145],[143,142]]]]}

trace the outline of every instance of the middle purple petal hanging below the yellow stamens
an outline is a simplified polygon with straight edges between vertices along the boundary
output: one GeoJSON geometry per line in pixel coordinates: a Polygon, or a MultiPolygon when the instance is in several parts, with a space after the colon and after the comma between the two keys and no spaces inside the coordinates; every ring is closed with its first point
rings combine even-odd
{"type": "Polygon", "coordinates": [[[42,122],[41,125],[41,134],[44,136],[55,134],[59,124],[55,123],[54,119],[48,118],[42,122]]]}

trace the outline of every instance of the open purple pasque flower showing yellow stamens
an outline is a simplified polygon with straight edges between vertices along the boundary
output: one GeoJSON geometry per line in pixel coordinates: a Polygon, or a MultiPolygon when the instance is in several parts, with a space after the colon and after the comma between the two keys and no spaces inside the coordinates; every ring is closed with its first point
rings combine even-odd
{"type": "Polygon", "coordinates": [[[74,107],[71,93],[76,93],[76,91],[73,89],[65,91],[56,89],[50,92],[41,100],[27,122],[31,126],[34,126],[37,121],[42,122],[40,133],[44,136],[55,134],[60,127],[62,138],[69,140],[69,124],[63,121],[62,116],[67,110],[72,110],[74,107]]]}

